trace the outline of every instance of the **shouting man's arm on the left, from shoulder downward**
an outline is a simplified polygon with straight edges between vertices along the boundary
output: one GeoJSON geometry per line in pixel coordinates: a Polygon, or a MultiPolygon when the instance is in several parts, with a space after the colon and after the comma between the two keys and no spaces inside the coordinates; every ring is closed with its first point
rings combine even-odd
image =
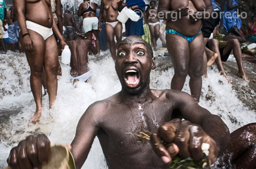
{"type": "Polygon", "coordinates": [[[81,168],[93,144],[99,129],[100,115],[104,111],[103,105],[96,102],[88,107],[82,115],[76,128],[76,135],[71,144],[76,168],[81,168]]]}

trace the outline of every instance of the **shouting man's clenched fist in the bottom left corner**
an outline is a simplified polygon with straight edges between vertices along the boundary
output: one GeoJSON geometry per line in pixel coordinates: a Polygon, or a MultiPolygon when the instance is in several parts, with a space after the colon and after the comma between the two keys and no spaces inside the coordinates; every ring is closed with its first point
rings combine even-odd
{"type": "Polygon", "coordinates": [[[50,147],[51,143],[45,134],[30,135],[12,148],[7,163],[12,169],[41,168],[41,164],[49,160],[50,147]]]}

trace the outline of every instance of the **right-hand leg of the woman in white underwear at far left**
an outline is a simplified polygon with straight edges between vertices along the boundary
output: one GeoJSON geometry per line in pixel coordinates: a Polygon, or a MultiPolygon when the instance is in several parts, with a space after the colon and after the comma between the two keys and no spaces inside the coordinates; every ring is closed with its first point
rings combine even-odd
{"type": "Polygon", "coordinates": [[[47,74],[47,90],[49,94],[49,108],[52,108],[57,96],[58,49],[52,35],[45,41],[45,70],[47,74]]]}

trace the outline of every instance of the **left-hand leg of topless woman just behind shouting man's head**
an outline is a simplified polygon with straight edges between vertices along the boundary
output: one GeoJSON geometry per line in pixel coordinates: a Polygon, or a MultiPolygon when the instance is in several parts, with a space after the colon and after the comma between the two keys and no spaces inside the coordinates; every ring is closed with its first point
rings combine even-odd
{"type": "Polygon", "coordinates": [[[116,43],[114,39],[114,28],[110,24],[106,23],[105,30],[107,32],[106,38],[108,39],[110,44],[110,53],[112,55],[113,60],[115,61],[116,60],[116,43]]]}

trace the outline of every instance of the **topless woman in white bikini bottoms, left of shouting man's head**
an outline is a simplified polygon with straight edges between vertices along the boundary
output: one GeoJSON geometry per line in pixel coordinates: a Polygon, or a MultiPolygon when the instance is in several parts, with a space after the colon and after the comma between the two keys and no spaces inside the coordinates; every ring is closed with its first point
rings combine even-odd
{"type": "Polygon", "coordinates": [[[117,20],[118,16],[118,4],[116,0],[101,0],[100,13],[99,13],[99,23],[98,28],[101,31],[100,21],[103,17],[103,12],[105,11],[105,30],[106,37],[108,38],[110,44],[110,52],[112,58],[116,60],[116,43],[115,36],[117,41],[117,46],[122,41],[122,23],[117,20]]]}

